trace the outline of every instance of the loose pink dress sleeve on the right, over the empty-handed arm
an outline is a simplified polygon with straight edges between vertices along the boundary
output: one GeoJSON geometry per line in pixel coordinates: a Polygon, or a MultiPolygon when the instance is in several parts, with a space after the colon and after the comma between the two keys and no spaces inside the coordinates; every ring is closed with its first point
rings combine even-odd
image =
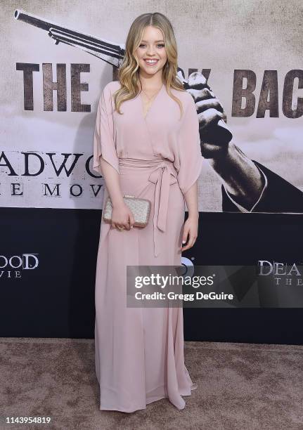
{"type": "Polygon", "coordinates": [[[177,137],[177,181],[184,195],[197,181],[202,169],[199,119],[193,97],[189,94],[177,137]]]}

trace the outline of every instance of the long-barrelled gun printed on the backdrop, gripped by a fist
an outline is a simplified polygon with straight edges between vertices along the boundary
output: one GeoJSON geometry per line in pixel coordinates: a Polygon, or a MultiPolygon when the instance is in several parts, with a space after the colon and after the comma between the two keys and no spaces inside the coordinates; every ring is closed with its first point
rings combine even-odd
{"type": "MultiPolygon", "coordinates": [[[[15,10],[14,18],[48,32],[49,37],[53,39],[56,45],[61,42],[63,44],[74,46],[75,48],[82,49],[82,51],[90,53],[92,56],[101,58],[101,60],[114,66],[114,75],[124,58],[124,44],[115,44],[112,41],[91,36],[91,34],[77,32],[76,30],[56,24],[55,22],[39,18],[39,16],[33,15],[32,13],[26,13],[21,9],[15,10]]],[[[185,79],[183,70],[180,67],[178,67],[177,77],[183,83],[184,89],[188,89],[188,83],[185,79]]],[[[206,79],[203,79],[203,77],[202,82],[200,83],[200,88],[207,88],[212,96],[214,96],[214,93],[212,93],[206,79]]],[[[222,119],[219,119],[219,122],[214,124],[214,129],[209,130],[209,133],[212,133],[217,141],[226,143],[231,141],[231,138],[233,137],[231,131],[228,130],[228,127],[222,119]]]]}

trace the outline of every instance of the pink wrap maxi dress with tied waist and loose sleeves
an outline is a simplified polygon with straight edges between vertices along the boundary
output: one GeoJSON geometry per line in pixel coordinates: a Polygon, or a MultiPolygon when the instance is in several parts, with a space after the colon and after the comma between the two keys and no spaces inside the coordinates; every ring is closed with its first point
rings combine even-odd
{"type": "MultiPolygon", "coordinates": [[[[120,174],[122,194],[149,199],[145,228],[120,232],[101,219],[96,264],[96,377],[100,409],[134,412],[161,398],[182,410],[197,384],[184,364],[183,308],[127,307],[127,265],[181,265],[185,213],[183,194],[202,169],[198,115],[187,91],[165,84],[146,117],[138,94],[115,112],[108,83],[98,103],[93,168],[102,157],[120,174]],[[180,119],[181,118],[181,119],[180,119]]],[[[104,188],[103,207],[108,197],[104,188]]]]}

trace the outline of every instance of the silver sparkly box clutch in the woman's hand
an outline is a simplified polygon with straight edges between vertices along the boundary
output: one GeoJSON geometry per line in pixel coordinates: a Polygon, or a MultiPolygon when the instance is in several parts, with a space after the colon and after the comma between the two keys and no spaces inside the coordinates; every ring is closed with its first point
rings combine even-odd
{"type": "MultiPolygon", "coordinates": [[[[129,209],[134,215],[135,223],[134,227],[146,227],[148,224],[148,219],[150,216],[151,202],[148,199],[140,199],[134,195],[123,196],[124,203],[127,204],[129,209]]],[[[108,196],[105,207],[103,209],[103,220],[105,223],[111,223],[112,220],[112,201],[110,196],[108,196]]]]}

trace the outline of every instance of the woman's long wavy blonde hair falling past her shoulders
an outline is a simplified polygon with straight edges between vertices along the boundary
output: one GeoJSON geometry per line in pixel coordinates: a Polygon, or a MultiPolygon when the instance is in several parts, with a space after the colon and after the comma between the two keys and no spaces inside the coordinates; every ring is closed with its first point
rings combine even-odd
{"type": "Polygon", "coordinates": [[[158,12],[143,13],[143,15],[139,15],[131,24],[125,44],[124,58],[118,69],[118,78],[121,88],[114,93],[115,108],[117,112],[122,115],[120,111],[121,104],[126,100],[136,97],[139,93],[139,65],[135,51],[141,43],[144,29],[148,25],[153,25],[153,27],[160,29],[164,35],[167,62],[162,69],[162,81],[166,86],[169,96],[178,103],[182,115],[182,103],[171,91],[172,88],[179,91],[186,91],[183,89],[181,81],[176,77],[178,69],[176,38],[174,36],[172,24],[165,15],[158,12]]]}

